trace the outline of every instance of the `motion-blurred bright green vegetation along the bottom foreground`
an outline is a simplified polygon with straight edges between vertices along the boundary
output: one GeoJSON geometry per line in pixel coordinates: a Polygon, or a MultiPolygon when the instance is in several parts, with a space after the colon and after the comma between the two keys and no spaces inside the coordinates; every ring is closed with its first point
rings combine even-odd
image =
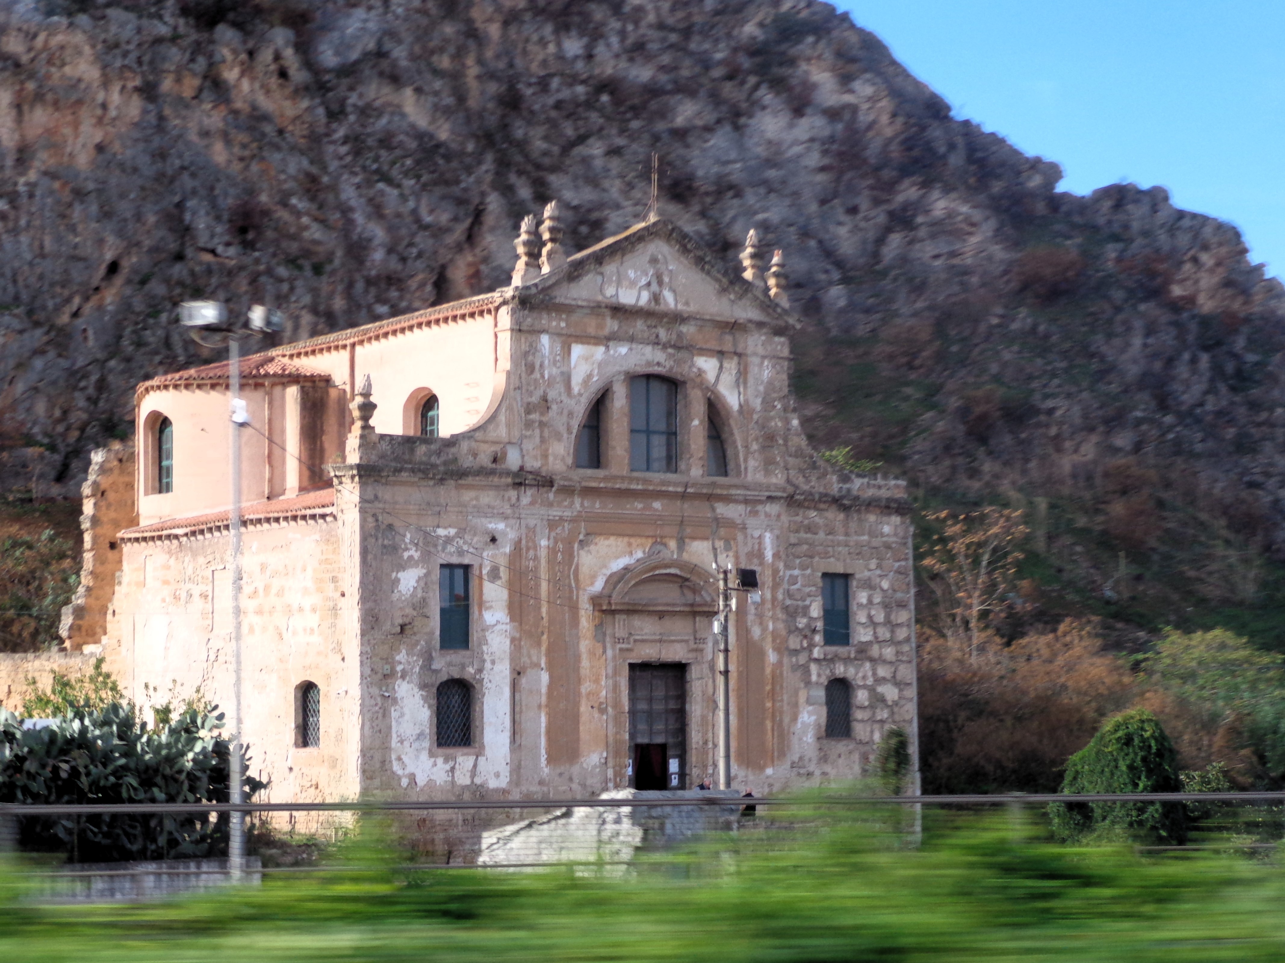
{"type": "Polygon", "coordinates": [[[0,869],[0,959],[1280,960],[1281,869],[1217,851],[1070,847],[1038,817],[761,814],[607,868],[406,871],[364,820],[320,873],[168,903],[41,907],[0,869]]]}

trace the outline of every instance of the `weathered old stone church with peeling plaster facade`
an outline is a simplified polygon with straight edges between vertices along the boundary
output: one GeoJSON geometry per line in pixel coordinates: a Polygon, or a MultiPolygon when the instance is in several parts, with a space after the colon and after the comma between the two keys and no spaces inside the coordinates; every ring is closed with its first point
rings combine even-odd
{"type": "MultiPolygon", "coordinates": [[[[713,779],[729,566],[758,583],[730,627],[735,788],[855,778],[914,729],[905,485],[810,448],[780,256],[765,273],[752,235],[734,271],[664,220],[559,239],[550,205],[511,286],[243,360],[244,737],[270,800],[713,779]]],[[[227,365],[136,404],[136,457],[86,485],[64,633],[144,704],[226,706],[227,365]]]]}

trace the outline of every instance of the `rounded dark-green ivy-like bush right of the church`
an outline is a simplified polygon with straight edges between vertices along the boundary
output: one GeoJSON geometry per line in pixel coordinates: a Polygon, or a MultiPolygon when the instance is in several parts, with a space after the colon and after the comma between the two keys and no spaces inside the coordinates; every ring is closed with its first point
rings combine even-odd
{"type": "MultiPolygon", "coordinates": [[[[1181,792],[1178,758],[1160,720],[1131,709],[1106,720],[1067,760],[1063,792],[1181,792]]],[[[1054,802],[1052,829],[1067,842],[1136,840],[1181,845],[1186,810],[1174,802],[1054,802]]]]}

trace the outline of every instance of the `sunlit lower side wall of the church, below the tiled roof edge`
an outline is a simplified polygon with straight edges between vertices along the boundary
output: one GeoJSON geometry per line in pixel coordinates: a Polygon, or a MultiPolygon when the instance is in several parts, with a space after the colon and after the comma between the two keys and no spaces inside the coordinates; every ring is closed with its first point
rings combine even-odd
{"type": "MultiPolygon", "coordinates": [[[[346,568],[324,517],[247,520],[243,529],[242,704],[249,772],[263,799],[357,794],[359,651],[344,633],[346,568]],[[321,746],[296,745],[296,687],[321,690],[321,746]]],[[[125,565],[104,654],[143,705],[195,692],[231,707],[229,535],[122,541],[125,565]]],[[[230,722],[230,719],[229,719],[230,722]]]]}

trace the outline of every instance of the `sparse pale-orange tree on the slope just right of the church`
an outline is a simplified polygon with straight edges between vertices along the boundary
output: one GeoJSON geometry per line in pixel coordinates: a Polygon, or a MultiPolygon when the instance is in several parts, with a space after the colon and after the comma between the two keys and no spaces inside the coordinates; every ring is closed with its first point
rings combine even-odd
{"type": "Polygon", "coordinates": [[[926,520],[939,530],[919,566],[937,596],[941,633],[975,657],[986,619],[1009,605],[1028,529],[1020,511],[995,506],[938,511],[926,520]]]}

